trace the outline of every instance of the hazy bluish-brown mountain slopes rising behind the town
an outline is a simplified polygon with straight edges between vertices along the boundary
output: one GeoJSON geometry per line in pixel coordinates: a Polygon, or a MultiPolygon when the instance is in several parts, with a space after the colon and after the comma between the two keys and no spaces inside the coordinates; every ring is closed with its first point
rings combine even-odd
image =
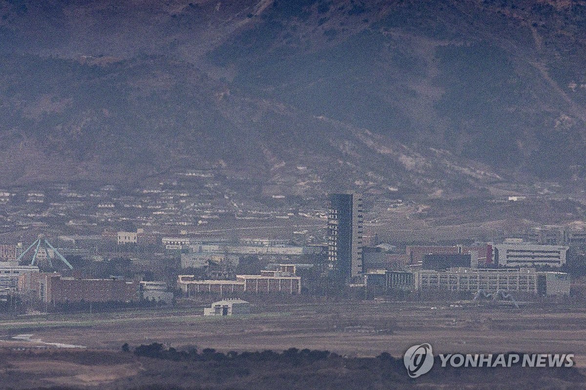
{"type": "Polygon", "coordinates": [[[585,176],[583,1],[11,0],[0,53],[4,186],[209,166],[293,192],[585,176]]]}

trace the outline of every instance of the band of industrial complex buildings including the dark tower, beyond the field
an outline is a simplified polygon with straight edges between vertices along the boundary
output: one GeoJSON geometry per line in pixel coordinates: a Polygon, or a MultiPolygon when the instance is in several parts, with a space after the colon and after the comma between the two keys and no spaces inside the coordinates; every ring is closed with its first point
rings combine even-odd
{"type": "Polygon", "coordinates": [[[403,296],[560,297],[573,293],[573,277],[564,272],[568,256],[586,254],[586,235],[547,230],[498,243],[397,248],[366,236],[361,194],[333,193],[328,201],[327,213],[315,214],[325,225],[321,242],[205,239],[188,230],[162,234],[137,228],[50,240],[39,234],[29,242],[2,243],[0,302],[20,296],[19,302],[43,303],[46,309],[88,302],[172,305],[195,297],[342,294],[352,289],[403,296]],[[77,264],[83,259],[81,269],[69,261],[76,258],[77,264]],[[124,266],[113,268],[116,261],[124,266]]]}

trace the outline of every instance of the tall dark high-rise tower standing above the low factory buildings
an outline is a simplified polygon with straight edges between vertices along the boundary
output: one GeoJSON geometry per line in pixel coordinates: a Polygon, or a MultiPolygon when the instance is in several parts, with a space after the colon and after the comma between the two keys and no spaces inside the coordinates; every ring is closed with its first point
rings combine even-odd
{"type": "Polygon", "coordinates": [[[331,271],[349,280],[363,272],[363,200],[361,194],[330,194],[328,262],[331,271]]]}

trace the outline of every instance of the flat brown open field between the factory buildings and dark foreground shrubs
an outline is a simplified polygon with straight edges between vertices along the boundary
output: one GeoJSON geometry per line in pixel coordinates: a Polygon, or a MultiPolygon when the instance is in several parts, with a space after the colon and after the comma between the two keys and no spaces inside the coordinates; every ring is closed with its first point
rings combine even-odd
{"type": "Polygon", "coordinates": [[[229,350],[330,350],[400,356],[429,342],[436,353],[523,351],[577,354],[586,367],[586,309],[509,306],[449,307],[437,302],[324,302],[262,305],[242,318],[201,316],[199,308],[36,316],[2,321],[0,343],[16,334],[46,342],[119,350],[158,341],[229,350]]]}

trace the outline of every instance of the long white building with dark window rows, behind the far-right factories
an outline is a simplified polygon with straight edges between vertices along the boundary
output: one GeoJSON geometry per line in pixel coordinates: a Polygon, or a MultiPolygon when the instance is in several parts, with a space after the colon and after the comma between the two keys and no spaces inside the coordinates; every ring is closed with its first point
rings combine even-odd
{"type": "Polygon", "coordinates": [[[561,267],[568,249],[560,245],[506,242],[494,246],[493,263],[507,267],[561,267]]]}

